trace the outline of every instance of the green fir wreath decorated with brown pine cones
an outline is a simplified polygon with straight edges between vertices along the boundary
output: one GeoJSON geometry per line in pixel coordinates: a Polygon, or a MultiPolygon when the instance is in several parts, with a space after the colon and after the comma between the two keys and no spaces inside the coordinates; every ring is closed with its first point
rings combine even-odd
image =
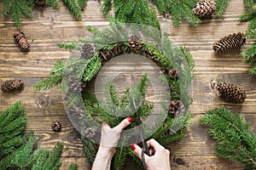
{"type": "MultiPolygon", "coordinates": [[[[166,34],[150,26],[114,21],[102,30],[91,26],[87,26],[87,30],[92,33],[92,37],[80,38],[79,42],[58,44],[61,48],[73,49],[73,56],[66,62],[57,61],[50,77],[35,84],[34,88],[48,89],[61,83],[67,116],[83,136],[84,153],[88,160],[93,162],[96,156],[101,122],[107,122],[114,127],[127,114],[137,120],[135,110],[142,117],[146,138],[154,138],[163,145],[182,139],[192,116],[189,113],[192,99],[188,88],[194,61],[188,49],[173,47],[166,34]],[[161,113],[154,114],[154,103],[145,99],[150,83],[148,73],[141,74],[137,86],[125,88],[122,94],[117,92],[113,81],[108,81],[104,102],[98,101],[96,95],[90,91],[90,86],[95,82],[102,66],[123,54],[146,57],[159,66],[160,81],[168,86],[165,91],[168,99],[160,101],[161,113]],[[122,115],[123,113],[126,115],[122,115]]],[[[134,121],[127,132],[134,132],[137,127],[137,121],[134,121]]],[[[141,141],[137,139],[137,133],[132,133],[129,138],[122,135],[113,158],[113,169],[121,169],[127,156],[132,156],[140,164],[129,147],[134,141],[141,141]]]]}

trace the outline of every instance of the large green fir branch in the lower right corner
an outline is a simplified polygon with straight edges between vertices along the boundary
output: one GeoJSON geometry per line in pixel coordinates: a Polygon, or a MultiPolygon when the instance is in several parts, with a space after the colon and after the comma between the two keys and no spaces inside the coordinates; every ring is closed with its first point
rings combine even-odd
{"type": "Polygon", "coordinates": [[[240,113],[222,107],[207,111],[200,119],[201,125],[217,144],[216,155],[236,159],[247,164],[247,169],[256,168],[256,138],[250,132],[249,123],[243,120],[240,113]]]}

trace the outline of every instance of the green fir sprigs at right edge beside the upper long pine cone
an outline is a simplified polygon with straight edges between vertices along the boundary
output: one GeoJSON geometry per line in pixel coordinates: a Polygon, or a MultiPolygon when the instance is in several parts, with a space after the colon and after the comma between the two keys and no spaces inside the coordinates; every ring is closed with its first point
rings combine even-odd
{"type": "MultiPolygon", "coordinates": [[[[247,26],[246,37],[247,39],[252,39],[256,41],[256,7],[253,7],[248,13],[240,15],[241,21],[250,21],[247,26]]],[[[247,64],[252,65],[249,69],[250,75],[256,75],[256,44],[253,44],[251,47],[241,52],[241,55],[244,57],[247,64]]]]}

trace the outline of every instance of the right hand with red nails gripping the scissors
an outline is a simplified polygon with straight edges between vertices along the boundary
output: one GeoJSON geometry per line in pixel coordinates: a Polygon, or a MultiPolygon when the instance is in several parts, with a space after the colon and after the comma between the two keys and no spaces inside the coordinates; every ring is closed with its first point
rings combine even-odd
{"type": "MultiPolygon", "coordinates": [[[[135,154],[142,159],[142,148],[137,144],[131,144],[132,150],[135,154]]],[[[160,145],[155,139],[148,140],[148,148],[150,148],[150,156],[144,154],[145,162],[148,170],[171,170],[170,165],[170,151],[166,150],[162,145],[160,145]]]]}

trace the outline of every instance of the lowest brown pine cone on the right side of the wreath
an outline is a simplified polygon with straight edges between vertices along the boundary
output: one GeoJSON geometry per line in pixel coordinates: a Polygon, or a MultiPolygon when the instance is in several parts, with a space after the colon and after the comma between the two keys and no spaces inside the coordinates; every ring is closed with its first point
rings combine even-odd
{"type": "Polygon", "coordinates": [[[169,105],[169,113],[171,116],[182,116],[184,115],[185,111],[185,106],[180,100],[172,100],[171,104],[169,105]]]}

